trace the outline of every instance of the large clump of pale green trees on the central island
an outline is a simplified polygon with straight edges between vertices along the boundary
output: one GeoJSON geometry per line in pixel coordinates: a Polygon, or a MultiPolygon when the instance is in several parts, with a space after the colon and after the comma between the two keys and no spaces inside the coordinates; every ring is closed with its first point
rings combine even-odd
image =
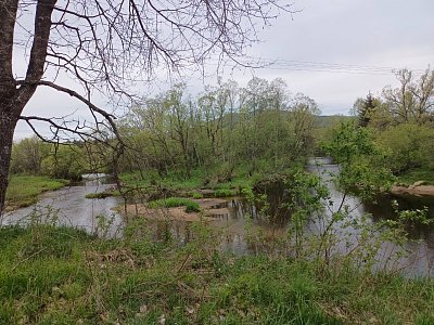
{"type": "Polygon", "coordinates": [[[281,79],[253,78],[246,88],[220,81],[196,98],[177,84],[133,107],[120,122],[130,147],[124,170],[155,170],[161,178],[177,170],[188,179],[194,169],[205,169],[220,183],[230,182],[240,165],[250,174],[261,170],[261,160],[283,169],[311,152],[317,114],[314,100],[290,98],[281,79]]]}

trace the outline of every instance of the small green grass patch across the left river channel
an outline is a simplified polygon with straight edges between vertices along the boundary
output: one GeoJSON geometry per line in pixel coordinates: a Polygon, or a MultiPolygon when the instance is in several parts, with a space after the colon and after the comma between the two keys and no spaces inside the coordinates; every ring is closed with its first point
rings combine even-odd
{"type": "Polygon", "coordinates": [[[53,180],[48,177],[12,176],[7,192],[7,206],[18,208],[33,205],[39,194],[62,188],[68,183],[66,180],[53,180]]]}

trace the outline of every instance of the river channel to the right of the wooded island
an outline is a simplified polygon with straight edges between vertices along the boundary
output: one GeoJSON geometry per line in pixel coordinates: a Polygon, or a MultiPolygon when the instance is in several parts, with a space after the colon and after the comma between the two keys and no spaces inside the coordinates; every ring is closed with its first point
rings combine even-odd
{"type": "MultiPolygon", "coordinates": [[[[318,174],[329,187],[333,204],[330,209],[326,209],[326,220],[328,216],[330,217],[339,209],[343,200],[348,208],[350,218],[360,219],[362,216],[368,216],[367,222],[375,223],[382,220],[396,219],[393,202],[397,203],[399,210],[426,207],[429,216],[434,218],[433,198],[384,195],[378,197],[374,203],[363,203],[354,196],[344,198],[343,193],[337,191],[332,182],[333,174],[339,173],[339,166],[332,164],[330,158],[311,158],[308,170],[318,174]]],[[[323,224],[321,222],[310,222],[309,224],[309,230],[314,233],[321,232],[322,227],[323,224]]],[[[348,225],[344,226],[342,223],[337,223],[334,226],[334,231],[342,238],[342,242],[337,244],[336,250],[341,253],[346,253],[348,249],[353,248],[352,243],[348,245],[348,242],[352,242],[352,238],[355,239],[359,235],[359,231],[348,225]]],[[[409,240],[405,242],[404,245],[398,246],[391,242],[382,243],[375,256],[378,262],[373,268],[400,272],[409,277],[434,276],[434,225],[412,225],[407,227],[406,231],[409,233],[409,240]]]]}

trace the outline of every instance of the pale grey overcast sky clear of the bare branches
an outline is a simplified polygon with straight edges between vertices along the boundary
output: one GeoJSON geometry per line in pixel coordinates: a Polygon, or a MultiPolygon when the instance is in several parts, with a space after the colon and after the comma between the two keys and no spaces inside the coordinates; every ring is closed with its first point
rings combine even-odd
{"type": "MultiPolygon", "coordinates": [[[[253,57],[276,61],[275,65],[228,69],[225,77],[241,86],[252,76],[280,77],[291,93],[309,95],[323,115],[333,115],[348,114],[355,100],[369,91],[380,94],[384,86],[396,86],[393,68],[420,72],[434,66],[433,0],[294,0],[294,9],[301,12],[281,15],[260,32],[263,42],[248,51],[253,57]]],[[[15,53],[15,62],[21,55],[15,53]]],[[[207,68],[215,69],[215,65],[207,68]]],[[[193,91],[202,87],[197,79],[186,76],[193,91]]],[[[205,82],[215,83],[216,78],[205,82]]],[[[86,110],[68,96],[39,89],[24,114],[36,114],[42,107],[46,116],[86,110]]],[[[15,139],[30,134],[20,122],[15,139]]]]}

